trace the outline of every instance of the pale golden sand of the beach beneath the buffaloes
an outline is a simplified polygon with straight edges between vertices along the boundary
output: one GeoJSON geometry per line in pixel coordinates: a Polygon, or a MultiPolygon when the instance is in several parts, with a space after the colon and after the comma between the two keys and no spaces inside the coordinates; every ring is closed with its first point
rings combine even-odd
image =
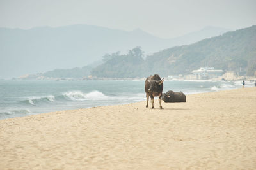
{"type": "Polygon", "coordinates": [[[0,120],[0,169],[256,169],[256,87],[0,120]]]}

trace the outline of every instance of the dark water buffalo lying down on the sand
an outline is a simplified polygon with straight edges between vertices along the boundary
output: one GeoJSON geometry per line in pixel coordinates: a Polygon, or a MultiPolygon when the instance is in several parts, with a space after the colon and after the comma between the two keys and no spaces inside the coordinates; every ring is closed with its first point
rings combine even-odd
{"type": "Polygon", "coordinates": [[[163,93],[162,99],[164,102],[186,102],[186,96],[182,92],[173,92],[172,90],[163,93]]]}

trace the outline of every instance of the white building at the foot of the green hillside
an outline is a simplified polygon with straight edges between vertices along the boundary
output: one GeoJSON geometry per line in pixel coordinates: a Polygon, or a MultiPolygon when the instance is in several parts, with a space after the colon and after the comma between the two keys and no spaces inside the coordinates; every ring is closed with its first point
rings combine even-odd
{"type": "Polygon", "coordinates": [[[196,75],[196,79],[208,79],[208,78],[218,78],[223,74],[222,69],[214,69],[214,67],[201,67],[192,71],[196,75]]]}

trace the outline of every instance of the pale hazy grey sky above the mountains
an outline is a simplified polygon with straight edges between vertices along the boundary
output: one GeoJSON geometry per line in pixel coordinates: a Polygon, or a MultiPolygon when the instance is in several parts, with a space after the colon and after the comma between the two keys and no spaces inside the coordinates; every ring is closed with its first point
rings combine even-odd
{"type": "Polygon", "coordinates": [[[0,0],[0,27],[88,24],[173,38],[209,25],[256,25],[255,9],[255,0],[0,0]]]}

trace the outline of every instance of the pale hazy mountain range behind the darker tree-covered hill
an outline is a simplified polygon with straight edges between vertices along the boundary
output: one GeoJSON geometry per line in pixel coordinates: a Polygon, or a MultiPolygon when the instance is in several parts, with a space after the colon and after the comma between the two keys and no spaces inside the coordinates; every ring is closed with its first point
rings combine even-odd
{"type": "Polygon", "coordinates": [[[56,68],[83,67],[106,53],[127,52],[141,46],[146,53],[195,43],[227,29],[212,27],[174,39],[161,39],[141,29],[122,31],[92,25],[0,28],[0,78],[35,74],[56,68]]]}

